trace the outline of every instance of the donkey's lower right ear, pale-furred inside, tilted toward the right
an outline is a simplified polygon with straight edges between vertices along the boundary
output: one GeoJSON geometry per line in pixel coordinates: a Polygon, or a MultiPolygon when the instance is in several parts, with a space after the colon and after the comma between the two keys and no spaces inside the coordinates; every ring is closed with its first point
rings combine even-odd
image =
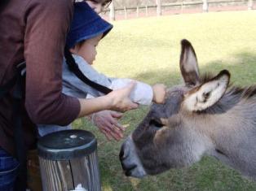
{"type": "Polygon", "coordinates": [[[188,111],[203,111],[213,106],[223,97],[229,83],[229,78],[230,74],[227,70],[219,72],[210,81],[186,93],[184,95],[183,106],[188,111]]]}

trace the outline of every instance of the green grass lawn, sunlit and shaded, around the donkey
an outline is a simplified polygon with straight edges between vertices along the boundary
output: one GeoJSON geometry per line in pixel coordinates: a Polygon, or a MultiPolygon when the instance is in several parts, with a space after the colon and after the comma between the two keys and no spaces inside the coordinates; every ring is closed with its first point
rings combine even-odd
{"type": "MultiPolygon", "coordinates": [[[[256,11],[215,12],[171,15],[114,22],[114,28],[99,43],[95,67],[108,76],[129,77],[148,84],[179,84],[180,40],[192,42],[201,72],[222,69],[232,73],[236,85],[256,81],[256,11]]],[[[148,108],[126,112],[121,123],[128,135],[148,108]]],[[[118,153],[121,142],[107,141],[85,119],[76,128],[95,133],[98,139],[99,166],[104,191],[128,190],[256,190],[256,183],[238,172],[205,157],[192,167],[172,169],[143,180],[122,174],[118,153]]]]}

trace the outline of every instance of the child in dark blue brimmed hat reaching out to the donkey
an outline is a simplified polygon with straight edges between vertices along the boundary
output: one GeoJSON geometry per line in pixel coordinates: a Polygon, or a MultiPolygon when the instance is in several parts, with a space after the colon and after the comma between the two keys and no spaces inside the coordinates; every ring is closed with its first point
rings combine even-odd
{"type": "MultiPolygon", "coordinates": [[[[131,80],[108,78],[103,74],[99,74],[99,72],[96,72],[95,69],[91,67],[97,54],[95,47],[112,28],[113,25],[101,19],[86,2],[78,2],[74,6],[73,22],[68,33],[66,46],[73,54],[73,58],[79,69],[87,78],[110,89],[121,89],[129,84],[131,80]]],[[[69,71],[67,63],[64,63],[63,66],[63,92],[77,98],[93,98],[103,95],[91,88],[90,85],[86,85],[82,80],[78,79],[73,72],[69,71]]],[[[164,85],[154,85],[151,87],[142,82],[137,82],[135,89],[130,94],[130,99],[142,105],[149,105],[152,101],[161,103],[164,101],[165,93],[166,89],[164,85]]],[[[109,112],[112,111],[104,111],[104,115],[109,115],[109,112]]],[[[92,117],[92,119],[93,118],[94,117],[92,117]]],[[[115,117],[113,116],[112,118],[115,117]]],[[[118,118],[118,116],[116,118],[118,118]]],[[[111,121],[111,119],[107,119],[111,121]]],[[[112,122],[109,124],[110,126],[113,124],[113,126],[117,126],[117,128],[101,127],[99,130],[103,132],[108,139],[113,137],[119,140],[122,134],[118,127],[121,128],[121,125],[112,122]]],[[[70,128],[70,126],[68,128],[70,128]]],[[[39,133],[44,135],[59,129],[63,130],[64,128],[52,125],[39,126],[39,133]]]]}

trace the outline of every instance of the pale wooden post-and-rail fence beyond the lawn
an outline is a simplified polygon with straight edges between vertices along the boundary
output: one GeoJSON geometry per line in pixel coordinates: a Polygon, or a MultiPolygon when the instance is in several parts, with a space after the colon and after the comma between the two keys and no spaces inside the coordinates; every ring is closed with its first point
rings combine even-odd
{"type": "Polygon", "coordinates": [[[177,7],[183,12],[184,7],[191,7],[191,6],[201,6],[201,10],[203,12],[209,11],[209,5],[221,5],[224,3],[247,3],[248,10],[253,10],[255,0],[201,0],[196,2],[173,2],[168,4],[161,4],[161,0],[156,0],[156,5],[146,5],[146,6],[137,6],[137,7],[122,7],[116,8],[115,2],[109,5],[108,10],[106,12],[109,14],[109,20],[116,20],[116,12],[122,11],[125,19],[127,19],[128,11],[134,11],[136,16],[139,17],[139,11],[145,12],[145,15],[148,16],[148,9],[155,9],[157,11],[157,15],[162,15],[162,8],[166,7],[177,7]]]}

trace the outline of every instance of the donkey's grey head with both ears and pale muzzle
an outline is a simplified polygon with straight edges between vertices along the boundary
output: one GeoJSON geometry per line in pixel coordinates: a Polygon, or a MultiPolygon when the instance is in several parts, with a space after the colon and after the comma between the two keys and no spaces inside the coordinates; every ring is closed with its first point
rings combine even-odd
{"type": "Polygon", "coordinates": [[[192,45],[187,40],[181,45],[184,84],[169,89],[164,104],[152,104],[148,115],[121,146],[126,176],[143,177],[188,166],[213,146],[198,128],[207,124],[198,121],[205,120],[205,111],[223,97],[230,75],[224,70],[201,80],[192,45]]]}

